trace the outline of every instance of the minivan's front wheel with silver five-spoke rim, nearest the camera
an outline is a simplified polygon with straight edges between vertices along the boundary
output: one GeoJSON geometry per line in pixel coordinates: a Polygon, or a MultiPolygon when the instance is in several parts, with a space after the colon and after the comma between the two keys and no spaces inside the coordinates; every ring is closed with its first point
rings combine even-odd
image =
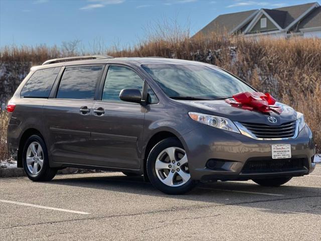
{"type": "Polygon", "coordinates": [[[186,152],[177,138],[157,143],[151,149],[146,165],[151,184],[164,193],[184,194],[194,187],[186,152]]]}

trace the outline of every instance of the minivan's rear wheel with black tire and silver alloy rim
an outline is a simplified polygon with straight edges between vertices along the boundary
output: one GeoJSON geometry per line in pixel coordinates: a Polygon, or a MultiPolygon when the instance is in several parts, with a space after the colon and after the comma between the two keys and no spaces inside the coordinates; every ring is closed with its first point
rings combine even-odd
{"type": "Polygon", "coordinates": [[[25,172],[32,181],[50,181],[57,174],[57,169],[49,166],[46,144],[38,135],[28,138],[22,158],[25,172]]]}

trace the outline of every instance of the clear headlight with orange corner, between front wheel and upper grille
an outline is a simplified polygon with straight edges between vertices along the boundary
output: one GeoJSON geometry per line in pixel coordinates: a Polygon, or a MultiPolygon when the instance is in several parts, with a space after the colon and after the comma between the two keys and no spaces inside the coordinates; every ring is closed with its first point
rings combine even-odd
{"type": "Polygon", "coordinates": [[[189,112],[189,115],[192,119],[194,119],[194,121],[202,124],[229,132],[240,133],[239,129],[237,129],[234,123],[228,118],[196,112],[189,112]]]}

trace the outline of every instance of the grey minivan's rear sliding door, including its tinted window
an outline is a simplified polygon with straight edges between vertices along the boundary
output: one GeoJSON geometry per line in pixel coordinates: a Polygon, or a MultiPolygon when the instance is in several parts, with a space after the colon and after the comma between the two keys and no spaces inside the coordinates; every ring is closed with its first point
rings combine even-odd
{"type": "Polygon", "coordinates": [[[49,150],[57,163],[91,165],[91,117],[94,99],[104,65],[65,67],[44,103],[45,129],[50,137],[49,150]]]}

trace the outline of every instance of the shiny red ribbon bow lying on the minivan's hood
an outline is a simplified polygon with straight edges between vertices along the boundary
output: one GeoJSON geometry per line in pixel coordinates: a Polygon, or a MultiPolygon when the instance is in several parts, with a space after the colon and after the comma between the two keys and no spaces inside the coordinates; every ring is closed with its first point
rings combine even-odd
{"type": "Polygon", "coordinates": [[[274,111],[278,114],[282,112],[281,107],[274,105],[276,100],[269,93],[241,92],[234,94],[233,98],[226,99],[225,102],[242,109],[260,112],[274,111]]]}

